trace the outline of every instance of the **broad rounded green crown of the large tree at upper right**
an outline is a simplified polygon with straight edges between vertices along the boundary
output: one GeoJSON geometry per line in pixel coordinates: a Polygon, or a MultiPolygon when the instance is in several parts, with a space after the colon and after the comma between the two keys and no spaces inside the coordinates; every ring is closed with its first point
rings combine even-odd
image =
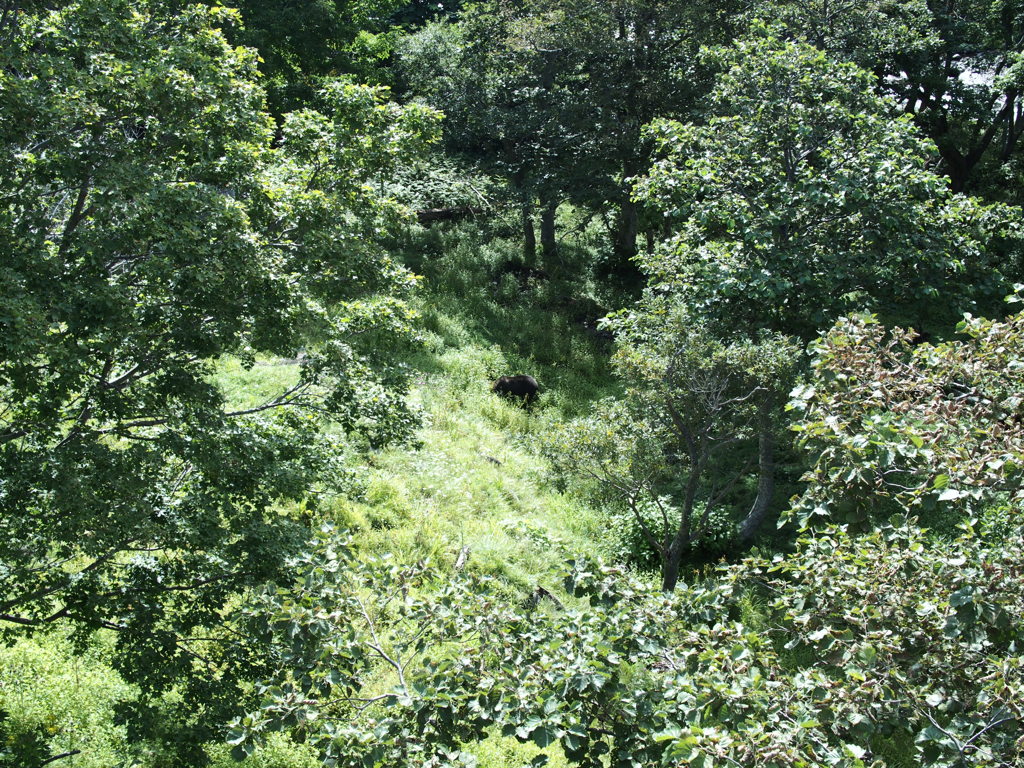
{"type": "Polygon", "coordinates": [[[950,328],[1009,292],[1019,213],[951,195],[868,73],[765,30],[716,55],[707,124],[652,128],[638,195],[677,227],[642,257],[652,285],[722,333],[805,341],[854,310],[950,328]]]}

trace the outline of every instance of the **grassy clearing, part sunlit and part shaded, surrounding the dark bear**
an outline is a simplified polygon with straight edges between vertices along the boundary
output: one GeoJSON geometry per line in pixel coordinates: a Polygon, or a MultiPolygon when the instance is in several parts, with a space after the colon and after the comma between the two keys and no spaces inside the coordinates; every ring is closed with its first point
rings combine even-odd
{"type": "Polygon", "coordinates": [[[420,446],[356,459],[357,492],[333,514],[377,554],[447,567],[467,549],[469,567],[511,589],[554,587],[572,552],[602,551],[602,517],[556,489],[536,443],[552,421],[614,391],[610,347],[594,328],[608,307],[568,246],[559,264],[525,271],[513,242],[471,226],[423,231],[406,250],[424,275],[424,345],[409,360],[421,372],[420,446]],[[489,392],[518,373],[541,383],[531,411],[489,392]]]}

